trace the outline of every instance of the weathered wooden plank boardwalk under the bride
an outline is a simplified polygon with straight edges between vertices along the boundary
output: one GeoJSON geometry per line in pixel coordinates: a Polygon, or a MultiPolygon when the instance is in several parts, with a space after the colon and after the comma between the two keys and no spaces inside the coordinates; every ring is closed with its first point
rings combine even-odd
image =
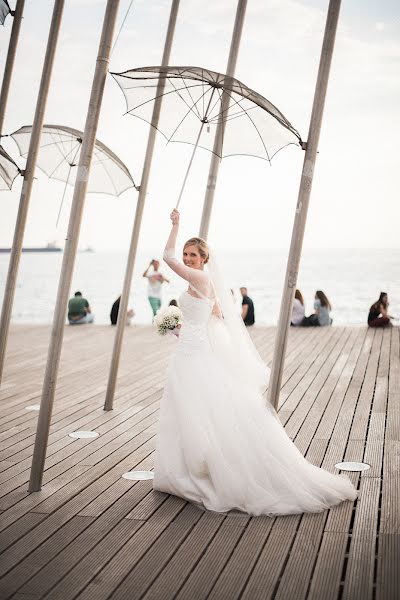
{"type": "MultiPolygon", "coordinates": [[[[252,332],[270,362],[273,328],[252,332]]],[[[359,489],[319,514],[200,511],[121,475],[153,466],[173,339],[127,330],[102,410],[114,330],[66,327],[44,486],[27,493],[48,327],[12,328],[0,394],[0,598],[389,600],[400,597],[399,329],[293,329],[280,417],[308,460],[364,460],[359,489]],[[76,430],[96,439],[73,439],[76,430]]]]}

